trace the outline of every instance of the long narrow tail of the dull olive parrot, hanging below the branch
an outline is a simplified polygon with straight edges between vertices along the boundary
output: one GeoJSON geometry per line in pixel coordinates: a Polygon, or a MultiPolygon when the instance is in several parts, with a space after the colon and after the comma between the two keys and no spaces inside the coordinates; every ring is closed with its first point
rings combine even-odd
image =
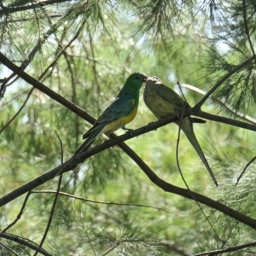
{"type": "Polygon", "coordinates": [[[198,156],[200,156],[202,162],[204,163],[206,169],[208,170],[208,172],[210,173],[212,180],[214,181],[214,183],[216,184],[216,186],[218,187],[218,182],[214,177],[214,174],[212,173],[211,167],[209,166],[204,153],[202,151],[202,148],[200,147],[198,141],[196,140],[196,136],[194,134],[193,131],[193,124],[191,122],[191,120],[189,120],[189,118],[184,118],[183,120],[179,120],[177,121],[177,124],[180,125],[180,129],[182,129],[182,131],[186,134],[189,142],[191,143],[191,145],[195,148],[196,153],[198,154],[198,156]]]}

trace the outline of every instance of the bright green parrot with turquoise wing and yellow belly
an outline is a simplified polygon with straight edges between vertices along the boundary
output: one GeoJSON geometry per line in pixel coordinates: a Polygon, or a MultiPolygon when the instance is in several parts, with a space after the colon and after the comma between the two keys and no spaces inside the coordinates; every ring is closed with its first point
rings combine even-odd
{"type": "Polygon", "coordinates": [[[137,114],[140,88],[147,77],[140,73],[134,73],[129,76],[117,95],[115,101],[99,116],[93,127],[83,135],[86,139],[84,143],[76,151],[86,151],[92,145],[97,136],[102,133],[109,134],[129,124],[137,114]]]}

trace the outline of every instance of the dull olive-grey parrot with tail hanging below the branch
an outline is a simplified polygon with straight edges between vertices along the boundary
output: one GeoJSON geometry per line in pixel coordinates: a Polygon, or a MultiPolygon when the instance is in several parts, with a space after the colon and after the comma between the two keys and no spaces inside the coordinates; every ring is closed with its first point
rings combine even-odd
{"type": "MultiPolygon", "coordinates": [[[[175,115],[176,111],[182,111],[184,108],[190,108],[189,104],[185,100],[183,100],[171,88],[164,85],[163,82],[156,76],[148,77],[143,98],[147,107],[158,119],[175,115]]],[[[178,120],[175,122],[175,124],[179,125],[180,129],[182,129],[182,131],[186,134],[189,142],[195,148],[198,156],[200,156],[205,167],[210,173],[212,180],[216,186],[218,186],[218,182],[215,179],[207,160],[205,159],[204,153],[202,152],[198,141],[196,140],[196,136],[193,131],[193,122],[200,122],[200,119],[191,118],[188,116],[178,120]]]]}

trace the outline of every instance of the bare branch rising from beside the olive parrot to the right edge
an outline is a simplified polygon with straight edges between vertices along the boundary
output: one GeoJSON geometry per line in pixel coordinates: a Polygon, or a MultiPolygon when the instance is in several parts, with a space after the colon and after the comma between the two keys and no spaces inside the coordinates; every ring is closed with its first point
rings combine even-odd
{"type": "Polygon", "coordinates": [[[216,83],[211,90],[209,90],[209,92],[207,92],[205,94],[205,96],[195,105],[194,108],[196,109],[200,109],[201,106],[204,104],[205,100],[207,100],[212,93],[218,88],[220,87],[220,85],[222,83],[224,83],[230,76],[232,76],[233,74],[235,74],[238,70],[242,69],[243,67],[245,67],[246,65],[248,65],[251,61],[256,59],[256,54],[254,54],[251,58],[248,58],[248,60],[244,61],[243,63],[241,63],[240,65],[238,65],[237,67],[233,68],[230,72],[228,72],[227,75],[223,76],[220,81],[218,81],[218,83],[216,83]]]}

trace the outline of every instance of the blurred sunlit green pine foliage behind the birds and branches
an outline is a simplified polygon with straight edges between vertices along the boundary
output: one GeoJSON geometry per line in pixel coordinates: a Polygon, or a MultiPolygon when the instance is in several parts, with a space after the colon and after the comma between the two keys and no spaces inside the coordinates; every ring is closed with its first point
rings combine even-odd
{"type": "MultiPolygon", "coordinates": [[[[254,0],[3,0],[0,51],[97,118],[133,72],[158,76],[176,92],[177,81],[207,92],[254,54],[255,13],[254,0]]],[[[211,98],[202,109],[234,119],[239,119],[237,112],[256,118],[255,67],[252,61],[214,92],[232,106],[233,113],[211,98]]],[[[61,163],[55,131],[66,161],[92,126],[35,89],[19,115],[4,127],[32,88],[16,76],[5,83],[11,74],[0,66],[1,196],[61,163]]],[[[182,91],[191,106],[202,98],[188,88],[182,91]]],[[[156,121],[142,95],[143,89],[138,115],[129,128],[156,121]]],[[[255,164],[235,186],[255,156],[255,132],[213,121],[195,124],[194,129],[219,188],[181,132],[179,163],[189,188],[255,218],[255,164]]],[[[169,124],[126,143],[161,179],[185,188],[175,157],[178,130],[169,124]]],[[[106,138],[100,136],[93,145],[106,138]]],[[[56,191],[58,179],[29,196],[20,220],[6,232],[40,244],[51,216],[54,193],[50,192],[56,191]]],[[[194,255],[255,240],[252,228],[202,205],[215,233],[193,200],[157,188],[118,146],[65,173],[61,192],[90,201],[58,196],[42,246],[52,255],[194,255]]],[[[25,196],[1,207],[1,230],[15,220],[25,196]]],[[[14,252],[35,253],[1,239],[1,255],[14,252]]],[[[251,247],[228,255],[255,253],[251,247]]]]}

